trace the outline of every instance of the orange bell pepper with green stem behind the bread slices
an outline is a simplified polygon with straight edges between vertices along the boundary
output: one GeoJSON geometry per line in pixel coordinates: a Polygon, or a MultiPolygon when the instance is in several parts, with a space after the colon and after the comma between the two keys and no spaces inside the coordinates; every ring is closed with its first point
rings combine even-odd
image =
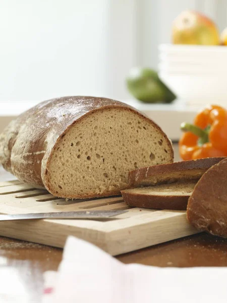
{"type": "Polygon", "coordinates": [[[182,123],[185,131],[179,142],[183,160],[227,157],[227,111],[209,105],[197,114],[194,124],[182,123]]]}

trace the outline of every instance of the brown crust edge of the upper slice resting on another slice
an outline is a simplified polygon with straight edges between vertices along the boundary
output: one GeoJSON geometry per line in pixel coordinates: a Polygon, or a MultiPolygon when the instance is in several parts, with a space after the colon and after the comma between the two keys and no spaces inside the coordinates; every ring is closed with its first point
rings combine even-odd
{"type": "Polygon", "coordinates": [[[204,158],[138,168],[129,172],[129,182],[133,187],[137,187],[142,185],[141,182],[143,180],[152,176],[196,169],[206,171],[224,158],[225,157],[204,158]]]}

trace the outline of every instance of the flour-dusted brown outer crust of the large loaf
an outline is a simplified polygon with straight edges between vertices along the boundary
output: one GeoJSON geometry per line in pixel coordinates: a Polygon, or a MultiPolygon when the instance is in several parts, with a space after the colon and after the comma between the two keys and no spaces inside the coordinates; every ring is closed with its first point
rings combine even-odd
{"type": "MultiPolygon", "coordinates": [[[[133,111],[149,121],[162,132],[173,159],[172,144],[165,133],[134,108],[108,98],[68,96],[44,101],[12,121],[0,136],[0,162],[22,182],[44,186],[51,192],[48,164],[58,140],[87,115],[108,108],[133,111]]],[[[109,194],[115,192],[103,193],[103,196],[109,194]]],[[[90,197],[93,196],[91,193],[90,197]]]]}

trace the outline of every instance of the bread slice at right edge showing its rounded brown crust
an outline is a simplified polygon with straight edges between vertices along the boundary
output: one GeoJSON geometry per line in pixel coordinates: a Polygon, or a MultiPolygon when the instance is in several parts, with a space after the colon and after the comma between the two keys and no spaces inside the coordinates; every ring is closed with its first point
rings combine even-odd
{"type": "Polygon", "coordinates": [[[198,230],[227,238],[227,158],[198,181],[189,198],[187,217],[198,230]]]}

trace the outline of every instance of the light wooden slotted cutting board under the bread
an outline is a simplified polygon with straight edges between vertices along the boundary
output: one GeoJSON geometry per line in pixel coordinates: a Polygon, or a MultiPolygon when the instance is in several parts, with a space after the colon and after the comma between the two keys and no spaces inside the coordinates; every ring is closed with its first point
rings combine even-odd
{"type": "Polygon", "coordinates": [[[54,197],[18,180],[0,182],[0,212],[22,214],[82,210],[128,210],[116,220],[20,220],[0,222],[2,236],[64,247],[67,236],[87,240],[115,256],[181,238],[198,231],[184,211],[159,211],[127,206],[121,196],[68,200],[54,197]]]}

